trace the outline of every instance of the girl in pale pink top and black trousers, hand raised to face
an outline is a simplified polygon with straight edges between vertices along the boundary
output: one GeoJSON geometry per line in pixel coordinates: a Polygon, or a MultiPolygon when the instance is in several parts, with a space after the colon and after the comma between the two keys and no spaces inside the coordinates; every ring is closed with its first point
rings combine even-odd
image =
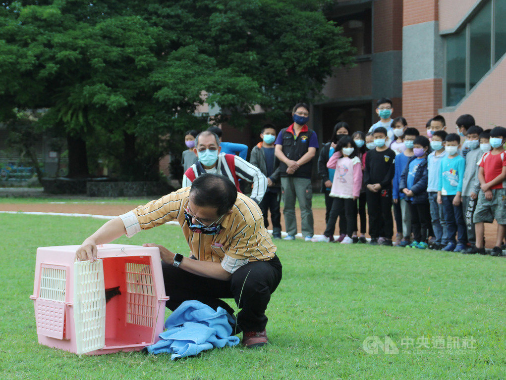
{"type": "Polygon", "coordinates": [[[335,153],[329,158],[327,168],[335,169],[330,197],[334,197],[332,209],[328,217],[327,228],[323,236],[313,242],[329,242],[332,226],[342,210],[346,215],[346,237],[341,244],[353,243],[352,235],[355,228],[355,201],[360,196],[362,187],[362,162],[357,147],[350,136],[343,136],[335,147],[335,153]]]}

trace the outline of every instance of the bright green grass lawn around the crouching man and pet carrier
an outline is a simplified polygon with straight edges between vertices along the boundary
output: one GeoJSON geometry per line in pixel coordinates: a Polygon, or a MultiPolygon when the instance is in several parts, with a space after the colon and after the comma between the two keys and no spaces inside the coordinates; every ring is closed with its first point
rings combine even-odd
{"type": "MultiPolygon", "coordinates": [[[[80,244],[102,223],[0,214],[1,379],[504,378],[505,259],[301,240],[279,242],[283,280],[267,311],[265,348],[171,361],[137,352],[79,357],[38,345],[28,298],[36,248],[80,244]],[[368,353],[368,337],[387,337],[398,352],[368,353]]],[[[178,226],[117,242],[188,253],[178,226]]]]}

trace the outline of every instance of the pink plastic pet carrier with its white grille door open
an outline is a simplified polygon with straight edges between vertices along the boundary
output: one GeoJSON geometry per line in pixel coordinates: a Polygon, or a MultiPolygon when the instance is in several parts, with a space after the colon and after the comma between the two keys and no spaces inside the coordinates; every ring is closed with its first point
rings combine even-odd
{"type": "Polygon", "coordinates": [[[168,300],[158,248],[105,244],[91,263],[74,261],[78,247],[37,249],[38,343],[89,355],[154,344],[168,300]]]}

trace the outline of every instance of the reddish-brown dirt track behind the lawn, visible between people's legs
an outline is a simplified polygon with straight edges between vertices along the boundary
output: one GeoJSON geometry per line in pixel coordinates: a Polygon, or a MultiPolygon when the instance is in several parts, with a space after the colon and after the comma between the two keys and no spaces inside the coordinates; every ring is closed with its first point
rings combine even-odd
{"type": "MultiPolygon", "coordinates": [[[[95,214],[95,215],[120,215],[132,210],[131,205],[121,204],[74,204],[74,203],[30,203],[30,204],[0,204],[0,211],[37,211],[37,212],[61,212],[61,213],[79,213],[79,214],[95,214]]],[[[296,210],[298,226],[301,225],[300,211],[296,210]]],[[[325,210],[313,209],[314,231],[315,233],[323,233],[325,230],[325,210]]],[[[281,226],[284,227],[284,219],[281,213],[281,226]]],[[[394,223],[395,226],[395,223],[394,223]]],[[[497,224],[485,224],[485,240],[486,247],[492,248],[495,242],[495,234],[497,224]]],[[[299,231],[300,232],[300,231],[299,231]]],[[[336,228],[336,234],[339,233],[339,227],[336,228]]]]}

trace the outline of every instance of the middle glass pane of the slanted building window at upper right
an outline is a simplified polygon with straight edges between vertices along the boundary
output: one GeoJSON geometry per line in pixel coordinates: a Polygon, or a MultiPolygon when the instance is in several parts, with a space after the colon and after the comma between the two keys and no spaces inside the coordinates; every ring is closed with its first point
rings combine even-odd
{"type": "Polygon", "coordinates": [[[490,70],[492,35],[492,2],[469,23],[469,88],[472,88],[490,70]]]}

